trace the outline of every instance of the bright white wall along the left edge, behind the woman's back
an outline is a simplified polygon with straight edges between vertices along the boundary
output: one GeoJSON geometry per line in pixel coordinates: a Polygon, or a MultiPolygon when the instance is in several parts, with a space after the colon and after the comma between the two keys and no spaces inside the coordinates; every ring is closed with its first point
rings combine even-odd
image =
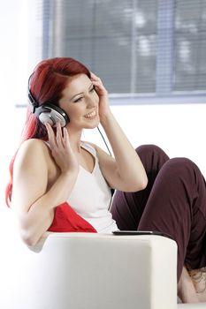
{"type": "Polygon", "coordinates": [[[15,104],[21,102],[27,80],[27,0],[1,2],[0,10],[0,236],[8,230],[5,220],[4,187],[8,164],[19,140],[19,115],[15,104]],[[3,231],[3,233],[2,233],[3,231]]]}

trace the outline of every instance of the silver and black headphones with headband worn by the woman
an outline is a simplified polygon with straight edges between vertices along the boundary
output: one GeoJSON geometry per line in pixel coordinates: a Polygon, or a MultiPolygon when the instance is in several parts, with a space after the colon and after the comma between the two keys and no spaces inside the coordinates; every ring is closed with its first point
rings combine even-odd
{"type": "Polygon", "coordinates": [[[39,106],[39,103],[36,102],[31,90],[29,89],[29,81],[31,77],[32,75],[28,79],[28,100],[33,106],[33,114],[42,124],[49,123],[51,126],[56,126],[58,122],[64,127],[69,122],[69,117],[66,115],[65,110],[49,102],[39,106]]]}

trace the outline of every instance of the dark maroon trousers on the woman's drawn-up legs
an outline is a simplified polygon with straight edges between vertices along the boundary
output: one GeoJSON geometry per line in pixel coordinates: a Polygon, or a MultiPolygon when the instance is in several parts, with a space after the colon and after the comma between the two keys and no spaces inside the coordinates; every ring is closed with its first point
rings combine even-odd
{"type": "Polygon", "coordinates": [[[206,266],[206,184],[187,158],[169,157],[153,145],[136,149],[149,183],[140,192],[116,192],[111,214],[120,230],[158,230],[178,245],[178,280],[183,265],[206,266]]]}

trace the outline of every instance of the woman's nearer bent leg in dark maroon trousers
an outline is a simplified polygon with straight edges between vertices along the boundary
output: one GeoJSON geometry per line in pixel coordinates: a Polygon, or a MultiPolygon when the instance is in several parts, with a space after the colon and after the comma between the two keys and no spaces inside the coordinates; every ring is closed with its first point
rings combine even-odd
{"type": "Polygon", "coordinates": [[[164,163],[138,229],[172,235],[178,244],[178,279],[185,262],[191,268],[206,265],[206,190],[195,163],[184,158],[164,163]]]}

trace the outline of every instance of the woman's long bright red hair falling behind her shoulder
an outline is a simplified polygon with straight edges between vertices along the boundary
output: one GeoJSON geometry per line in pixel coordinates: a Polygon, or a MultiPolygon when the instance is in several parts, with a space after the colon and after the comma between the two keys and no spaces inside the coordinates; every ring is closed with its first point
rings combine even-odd
{"type": "MultiPolygon", "coordinates": [[[[37,64],[29,79],[29,91],[39,106],[48,102],[58,106],[68,79],[77,74],[86,74],[89,79],[91,78],[88,68],[70,57],[42,60],[37,64]]],[[[27,139],[48,139],[45,126],[34,116],[30,106],[27,109],[27,119],[21,135],[21,143],[27,139]]],[[[8,207],[11,203],[13,163],[16,154],[10,163],[11,179],[5,190],[5,201],[8,207]]]]}

